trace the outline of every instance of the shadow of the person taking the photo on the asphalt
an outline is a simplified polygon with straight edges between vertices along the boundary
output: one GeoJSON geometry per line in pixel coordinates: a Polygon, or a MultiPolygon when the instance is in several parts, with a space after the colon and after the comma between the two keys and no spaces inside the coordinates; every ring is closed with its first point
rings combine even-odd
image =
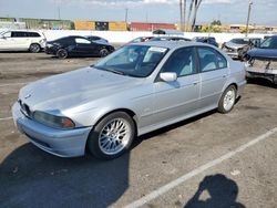
{"type": "Polygon", "coordinates": [[[184,208],[245,208],[237,202],[238,186],[225,175],[206,176],[184,208]]]}

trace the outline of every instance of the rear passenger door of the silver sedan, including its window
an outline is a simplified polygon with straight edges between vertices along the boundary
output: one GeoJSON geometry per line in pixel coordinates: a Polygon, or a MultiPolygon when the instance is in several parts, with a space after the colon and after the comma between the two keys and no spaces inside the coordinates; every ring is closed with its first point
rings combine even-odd
{"type": "Polygon", "coordinates": [[[229,74],[227,61],[209,46],[198,46],[197,54],[202,81],[199,107],[216,107],[229,74]]]}

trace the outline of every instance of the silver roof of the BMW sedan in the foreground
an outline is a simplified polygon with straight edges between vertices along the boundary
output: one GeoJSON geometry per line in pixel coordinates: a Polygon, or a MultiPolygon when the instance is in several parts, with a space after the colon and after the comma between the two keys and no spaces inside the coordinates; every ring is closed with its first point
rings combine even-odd
{"type": "Polygon", "coordinates": [[[188,41],[147,41],[140,43],[131,43],[131,45],[146,45],[146,46],[161,46],[167,49],[177,49],[181,46],[211,46],[209,44],[199,43],[199,42],[188,42],[188,41]]]}

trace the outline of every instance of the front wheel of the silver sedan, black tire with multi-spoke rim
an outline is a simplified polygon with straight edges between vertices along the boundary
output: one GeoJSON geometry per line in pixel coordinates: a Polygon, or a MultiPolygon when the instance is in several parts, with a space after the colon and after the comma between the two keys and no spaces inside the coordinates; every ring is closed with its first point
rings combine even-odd
{"type": "MultiPolygon", "coordinates": [[[[112,131],[110,131],[107,134],[110,134],[111,132],[112,131]]],[[[116,131],[116,132],[119,132],[119,131],[116,131]]],[[[132,117],[129,114],[124,113],[124,112],[115,112],[115,113],[109,114],[107,116],[102,118],[96,124],[96,126],[90,133],[86,147],[90,150],[90,153],[92,153],[92,155],[95,156],[99,159],[105,159],[105,160],[114,159],[116,157],[120,157],[121,155],[123,155],[124,153],[126,153],[130,149],[134,137],[135,137],[135,123],[132,119],[132,117]],[[100,136],[101,136],[101,134],[103,132],[107,132],[107,131],[104,131],[104,129],[106,129],[105,127],[109,124],[111,124],[113,121],[117,121],[117,119],[122,119],[122,121],[126,122],[129,127],[130,127],[130,135],[126,134],[127,135],[127,139],[126,139],[127,142],[125,143],[125,146],[122,145],[122,147],[121,147],[122,149],[120,152],[114,153],[114,154],[105,153],[103,150],[103,146],[106,146],[106,147],[110,146],[111,147],[112,145],[110,145],[110,144],[112,142],[111,142],[111,138],[105,139],[104,142],[102,141],[102,146],[101,146],[100,136]],[[104,145],[104,143],[109,143],[109,144],[104,145]]],[[[103,139],[103,137],[102,137],[102,139],[103,139]]],[[[121,141],[123,141],[123,138],[121,141]]],[[[114,144],[115,144],[115,142],[114,142],[114,144]]],[[[119,142],[117,142],[117,144],[119,144],[119,142]]],[[[122,143],[120,143],[120,144],[122,144],[122,143]]],[[[116,147],[114,147],[114,148],[116,148],[116,147]]]]}

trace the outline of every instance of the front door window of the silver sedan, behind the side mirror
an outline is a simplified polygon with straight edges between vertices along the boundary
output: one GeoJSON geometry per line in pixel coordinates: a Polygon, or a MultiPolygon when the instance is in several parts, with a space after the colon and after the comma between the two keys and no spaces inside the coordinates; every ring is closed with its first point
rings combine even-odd
{"type": "Polygon", "coordinates": [[[162,72],[175,72],[178,77],[195,74],[197,71],[194,48],[183,48],[173,52],[162,72]]]}

